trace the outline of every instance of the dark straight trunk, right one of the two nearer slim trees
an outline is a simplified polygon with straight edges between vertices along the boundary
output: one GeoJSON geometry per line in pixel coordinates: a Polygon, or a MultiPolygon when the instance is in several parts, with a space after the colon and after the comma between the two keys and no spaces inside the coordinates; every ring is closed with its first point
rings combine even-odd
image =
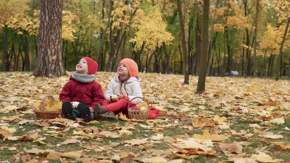
{"type": "Polygon", "coordinates": [[[209,15],[209,0],[203,0],[202,55],[201,55],[201,64],[200,64],[201,68],[199,72],[197,93],[202,93],[205,89],[206,58],[208,53],[208,15],[209,15]]]}

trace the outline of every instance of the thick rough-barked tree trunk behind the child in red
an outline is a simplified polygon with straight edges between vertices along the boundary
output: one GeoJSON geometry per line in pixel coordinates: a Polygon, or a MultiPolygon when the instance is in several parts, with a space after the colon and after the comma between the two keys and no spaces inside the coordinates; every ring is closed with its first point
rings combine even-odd
{"type": "Polygon", "coordinates": [[[62,0],[41,0],[38,57],[32,75],[49,78],[65,75],[62,65],[62,0]]]}

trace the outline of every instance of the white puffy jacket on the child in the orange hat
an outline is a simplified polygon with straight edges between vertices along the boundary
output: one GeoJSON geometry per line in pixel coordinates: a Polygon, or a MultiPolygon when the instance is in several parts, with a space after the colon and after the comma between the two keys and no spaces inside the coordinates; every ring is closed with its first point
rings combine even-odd
{"type": "MultiPolygon", "coordinates": [[[[119,75],[117,74],[109,83],[107,90],[105,92],[105,99],[109,100],[111,102],[110,96],[112,94],[115,95],[121,95],[120,92],[120,86],[121,91],[124,95],[127,95],[129,97],[129,100],[131,101],[134,97],[143,97],[142,89],[140,86],[140,77],[130,77],[126,82],[123,84],[119,81],[119,75]]],[[[142,102],[141,98],[134,99],[131,104],[137,105],[142,102]]]]}

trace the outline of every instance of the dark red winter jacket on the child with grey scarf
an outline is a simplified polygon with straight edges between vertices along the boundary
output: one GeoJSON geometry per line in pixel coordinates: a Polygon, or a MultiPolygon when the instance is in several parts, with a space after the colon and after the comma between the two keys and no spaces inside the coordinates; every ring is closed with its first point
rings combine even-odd
{"type": "Polygon", "coordinates": [[[93,109],[97,103],[102,105],[104,99],[104,92],[99,83],[96,81],[90,83],[80,82],[74,80],[72,77],[65,83],[59,94],[59,100],[61,102],[66,100],[69,102],[81,102],[93,109]]]}

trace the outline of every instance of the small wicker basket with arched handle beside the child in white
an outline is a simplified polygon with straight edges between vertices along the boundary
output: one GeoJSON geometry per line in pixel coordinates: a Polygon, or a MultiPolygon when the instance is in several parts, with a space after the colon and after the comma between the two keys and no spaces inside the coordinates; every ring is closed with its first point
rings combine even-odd
{"type": "Polygon", "coordinates": [[[148,119],[148,115],[149,115],[149,103],[146,99],[144,99],[143,97],[134,97],[132,100],[130,100],[129,104],[128,104],[128,113],[129,113],[129,118],[133,119],[138,119],[138,120],[146,120],[148,119]],[[130,103],[132,100],[137,99],[137,98],[141,98],[143,99],[147,105],[148,105],[148,109],[145,110],[133,110],[132,108],[130,108],[130,103]]]}

